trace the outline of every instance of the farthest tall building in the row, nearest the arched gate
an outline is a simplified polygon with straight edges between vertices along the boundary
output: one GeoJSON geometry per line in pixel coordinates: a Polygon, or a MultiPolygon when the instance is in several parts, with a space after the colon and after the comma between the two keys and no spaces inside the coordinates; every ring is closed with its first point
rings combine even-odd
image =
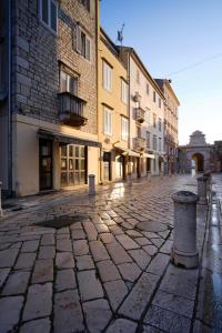
{"type": "Polygon", "coordinates": [[[175,173],[178,169],[178,108],[180,102],[172,89],[171,81],[155,79],[164,94],[164,173],[175,173]]]}

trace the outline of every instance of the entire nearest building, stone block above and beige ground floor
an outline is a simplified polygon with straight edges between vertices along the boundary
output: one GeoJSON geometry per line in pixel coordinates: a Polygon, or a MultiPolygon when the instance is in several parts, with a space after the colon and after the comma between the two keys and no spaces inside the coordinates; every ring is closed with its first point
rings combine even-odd
{"type": "Polygon", "coordinates": [[[0,54],[11,59],[0,103],[3,190],[34,194],[84,184],[89,173],[98,181],[98,1],[3,0],[1,9],[0,54]]]}

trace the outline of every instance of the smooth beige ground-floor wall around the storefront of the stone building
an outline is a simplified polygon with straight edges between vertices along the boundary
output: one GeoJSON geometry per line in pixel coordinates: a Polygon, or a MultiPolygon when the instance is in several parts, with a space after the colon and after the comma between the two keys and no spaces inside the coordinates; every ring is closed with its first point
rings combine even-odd
{"type": "MultiPolygon", "coordinates": [[[[14,115],[13,119],[13,189],[16,194],[31,195],[39,193],[39,128],[53,133],[63,133],[64,135],[78,134],[78,131],[69,127],[59,127],[42,120],[30,119],[24,115],[14,115]]],[[[95,134],[82,132],[78,137],[85,140],[97,140],[95,134]]],[[[88,148],[88,174],[95,174],[98,183],[99,170],[99,148],[88,148]]],[[[53,142],[53,189],[60,189],[60,147],[59,142],[53,142]]]]}

